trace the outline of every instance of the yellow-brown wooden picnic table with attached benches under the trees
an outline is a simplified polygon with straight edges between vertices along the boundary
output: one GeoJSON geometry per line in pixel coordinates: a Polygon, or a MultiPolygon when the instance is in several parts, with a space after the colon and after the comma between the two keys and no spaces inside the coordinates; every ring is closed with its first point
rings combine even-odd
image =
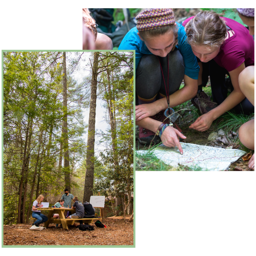
{"type": "MultiPolygon", "coordinates": [[[[48,228],[50,223],[55,224],[62,224],[62,227],[68,230],[68,225],[73,225],[75,222],[79,222],[79,220],[86,220],[84,222],[92,223],[92,220],[99,220],[98,218],[83,218],[83,219],[66,219],[64,212],[70,211],[73,213],[76,212],[76,209],[70,209],[70,208],[52,208],[52,207],[41,207],[40,211],[49,211],[48,213],[48,220],[44,222],[44,227],[48,228]],[[60,219],[52,218],[53,214],[58,213],[60,216],[60,219]]],[[[34,218],[31,218],[34,219],[34,218]]],[[[100,217],[101,221],[101,217],[100,217]]]]}

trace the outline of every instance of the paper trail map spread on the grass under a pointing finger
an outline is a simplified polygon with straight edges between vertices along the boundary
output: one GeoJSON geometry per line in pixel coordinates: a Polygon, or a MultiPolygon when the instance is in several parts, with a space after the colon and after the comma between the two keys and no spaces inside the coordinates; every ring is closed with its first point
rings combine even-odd
{"type": "MultiPolygon", "coordinates": [[[[229,165],[235,162],[246,152],[238,149],[213,148],[190,143],[180,142],[183,155],[177,147],[169,148],[160,144],[152,149],[154,155],[165,164],[177,167],[181,165],[199,166],[205,171],[218,172],[226,170],[229,165]]],[[[145,154],[148,150],[137,150],[138,154],[145,154]]]]}

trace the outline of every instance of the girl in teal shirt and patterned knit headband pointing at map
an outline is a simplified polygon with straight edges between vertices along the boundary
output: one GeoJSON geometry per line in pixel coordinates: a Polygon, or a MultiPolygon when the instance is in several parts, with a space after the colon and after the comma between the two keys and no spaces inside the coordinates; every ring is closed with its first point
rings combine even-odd
{"type": "Polygon", "coordinates": [[[136,19],[137,27],[126,34],[118,49],[135,50],[135,119],[140,126],[139,140],[149,144],[156,135],[153,142],[161,139],[165,146],[177,146],[182,154],[177,136],[186,137],[177,124],[162,124],[163,113],[196,95],[196,56],[185,41],[184,28],[175,22],[172,8],[145,8],[136,19]],[[184,87],[179,90],[182,80],[184,87]]]}

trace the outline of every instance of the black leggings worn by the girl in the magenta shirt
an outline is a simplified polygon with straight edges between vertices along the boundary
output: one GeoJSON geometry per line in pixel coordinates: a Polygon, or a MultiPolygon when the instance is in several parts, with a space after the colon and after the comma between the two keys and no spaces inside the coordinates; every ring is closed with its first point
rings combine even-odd
{"type": "MultiPolygon", "coordinates": [[[[201,62],[196,57],[198,62],[201,62]]],[[[202,84],[205,86],[208,82],[208,76],[210,76],[211,80],[211,88],[212,88],[212,100],[217,102],[220,105],[226,98],[228,94],[228,88],[226,86],[225,76],[226,74],[229,76],[227,69],[220,67],[215,60],[210,60],[208,62],[202,62],[203,64],[203,74],[202,74],[202,84]]],[[[231,84],[231,92],[234,90],[234,87],[231,84]]],[[[235,111],[236,114],[244,114],[250,115],[255,112],[255,108],[252,103],[245,98],[239,104],[237,104],[232,110],[235,111]]]]}

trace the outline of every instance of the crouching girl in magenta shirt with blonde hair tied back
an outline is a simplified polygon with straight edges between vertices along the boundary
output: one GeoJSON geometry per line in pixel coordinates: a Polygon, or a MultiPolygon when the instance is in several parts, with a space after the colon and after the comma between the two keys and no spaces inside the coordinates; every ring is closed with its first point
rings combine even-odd
{"type": "Polygon", "coordinates": [[[234,109],[236,113],[254,112],[254,106],[245,98],[238,83],[239,74],[255,62],[255,44],[248,29],[235,20],[220,17],[212,11],[199,12],[185,20],[183,26],[192,51],[198,62],[202,62],[199,65],[199,75],[206,74],[207,80],[208,74],[210,75],[212,98],[219,105],[198,117],[189,128],[203,132],[210,128],[213,120],[230,109],[234,109]],[[228,97],[226,74],[232,82],[228,97]]]}

